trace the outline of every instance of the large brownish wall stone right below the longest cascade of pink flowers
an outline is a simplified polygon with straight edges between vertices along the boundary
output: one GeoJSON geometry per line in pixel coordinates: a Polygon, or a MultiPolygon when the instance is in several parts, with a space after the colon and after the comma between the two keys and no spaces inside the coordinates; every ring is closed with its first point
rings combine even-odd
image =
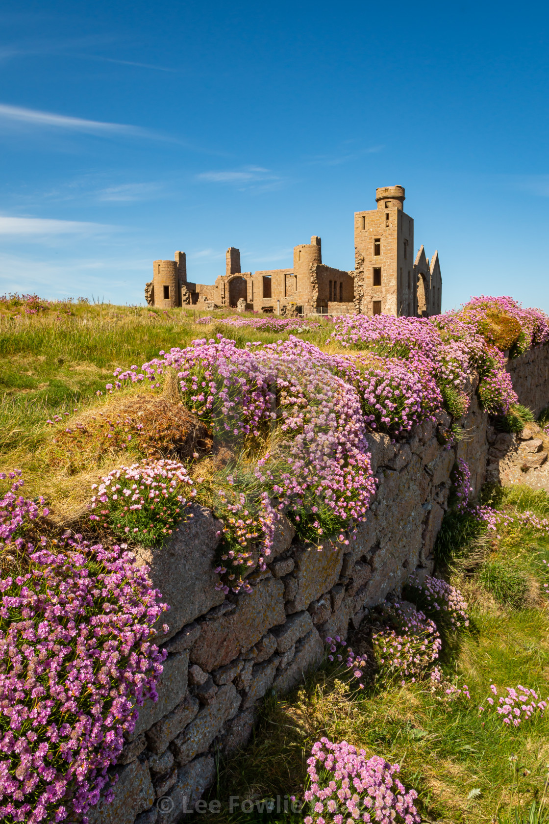
{"type": "Polygon", "coordinates": [[[286,612],[306,610],[311,601],[315,601],[323,592],[327,592],[337,583],[342,569],[345,545],[324,541],[322,551],[315,546],[295,552],[294,576],[297,582],[297,594],[287,605],[286,612]]]}

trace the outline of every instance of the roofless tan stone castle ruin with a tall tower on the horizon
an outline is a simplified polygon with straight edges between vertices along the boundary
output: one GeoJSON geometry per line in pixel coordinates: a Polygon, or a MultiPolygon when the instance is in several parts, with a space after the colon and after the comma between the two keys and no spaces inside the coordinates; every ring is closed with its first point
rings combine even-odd
{"type": "Polygon", "coordinates": [[[240,311],[296,316],[351,314],[421,316],[440,314],[442,278],[438,252],[429,261],[423,246],[412,259],[414,222],[404,212],[404,187],[377,189],[377,208],[355,213],[355,269],[322,262],[318,236],[294,246],[291,269],[242,272],[240,250],[226,251],[226,272],[212,285],[190,283],[184,252],[155,260],[145,287],[150,306],[240,311]]]}

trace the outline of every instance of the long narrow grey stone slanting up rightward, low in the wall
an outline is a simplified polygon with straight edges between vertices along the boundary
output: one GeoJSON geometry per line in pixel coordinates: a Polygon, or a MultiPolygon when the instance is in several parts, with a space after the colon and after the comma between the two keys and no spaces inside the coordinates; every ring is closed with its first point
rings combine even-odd
{"type": "Polygon", "coordinates": [[[216,735],[221,732],[223,723],[236,714],[239,706],[240,695],[234,684],[220,686],[212,704],[203,707],[183,733],[171,742],[170,748],[175,761],[183,766],[198,753],[205,752],[216,735]]]}

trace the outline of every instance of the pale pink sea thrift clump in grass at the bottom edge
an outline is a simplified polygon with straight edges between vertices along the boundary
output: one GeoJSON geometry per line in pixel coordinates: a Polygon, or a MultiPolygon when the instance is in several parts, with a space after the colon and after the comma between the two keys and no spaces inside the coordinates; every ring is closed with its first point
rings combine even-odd
{"type": "Polygon", "coordinates": [[[368,758],[346,741],[328,738],[314,742],[307,761],[309,802],[305,824],[342,824],[355,820],[379,824],[416,824],[421,821],[415,789],[398,779],[400,766],[380,756],[368,758]]]}

